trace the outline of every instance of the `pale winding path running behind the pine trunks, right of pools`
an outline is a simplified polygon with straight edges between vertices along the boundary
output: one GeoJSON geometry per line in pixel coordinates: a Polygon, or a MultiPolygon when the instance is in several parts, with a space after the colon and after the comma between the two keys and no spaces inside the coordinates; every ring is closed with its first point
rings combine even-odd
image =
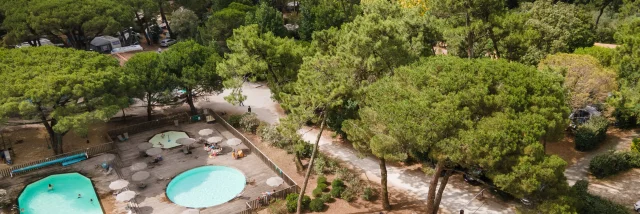
{"type": "MultiPolygon", "coordinates": [[[[278,104],[271,100],[271,92],[265,86],[253,83],[247,83],[243,87],[244,94],[248,96],[248,100],[244,103],[251,106],[252,112],[258,115],[263,121],[269,123],[277,123],[280,117],[283,117],[278,104]]],[[[225,92],[218,96],[209,97],[208,101],[201,101],[197,104],[199,107],[213,108],[216,111],[224,111],[227,113],[244,113],[246,106],[233,106],[224,101],[225,92]]],[[[300,130],[303,138],[307,141],[314,142],[317,136],[317,130],[310,130],[304,127],[300,130]]],[[[348,147],[344,147],[339,143],[333,143],[331,137],[323,136],[320,141],[320,150],[326,154],[332,155],[354,167],[366,172],[366,175],[372,180],[379,180],[380,170],[377,159],[372,157],[360,158],[356,152],[348,147]]],[[[387,166],[388,182],[390,186],[405,190],[416,195],[421,199],[425,199],[428,191],[428,182],[430,176],[422,172],[407,171],[394,166],[387,166]]],[[[462,183],[461,185],[466,185],[462,183]]],[[[447,185],[447,189],[442,197],[441,206],[450,212],[458,212],[465,209],[466,213],[515,213],[515,209],[510,206],[496,203],[491,200],[472,200],[479,191],[469,191],[447,185]]]]}

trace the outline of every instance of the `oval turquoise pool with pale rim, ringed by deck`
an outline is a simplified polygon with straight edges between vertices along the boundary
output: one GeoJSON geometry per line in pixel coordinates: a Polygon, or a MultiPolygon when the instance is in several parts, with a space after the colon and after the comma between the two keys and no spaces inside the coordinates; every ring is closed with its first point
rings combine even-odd
{"type": "Polygon", "coordinates": [[[167,186],[167,197],[185,207],[211,207],[235,198],[245,184],[244,175],[236,169],[203,166],[173,178],[167,186]]]}

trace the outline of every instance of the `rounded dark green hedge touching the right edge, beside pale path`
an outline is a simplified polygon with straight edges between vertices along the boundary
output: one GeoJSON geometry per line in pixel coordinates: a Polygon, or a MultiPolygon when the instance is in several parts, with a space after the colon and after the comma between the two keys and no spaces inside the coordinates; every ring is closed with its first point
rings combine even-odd
{"type": "Polygon", "coordinates": [[[608,152],[595,156],[589,162],[589,171],[596,178],[615,175],[633,167],[640,167],[640,154],[634,152],[608,152]]]}

